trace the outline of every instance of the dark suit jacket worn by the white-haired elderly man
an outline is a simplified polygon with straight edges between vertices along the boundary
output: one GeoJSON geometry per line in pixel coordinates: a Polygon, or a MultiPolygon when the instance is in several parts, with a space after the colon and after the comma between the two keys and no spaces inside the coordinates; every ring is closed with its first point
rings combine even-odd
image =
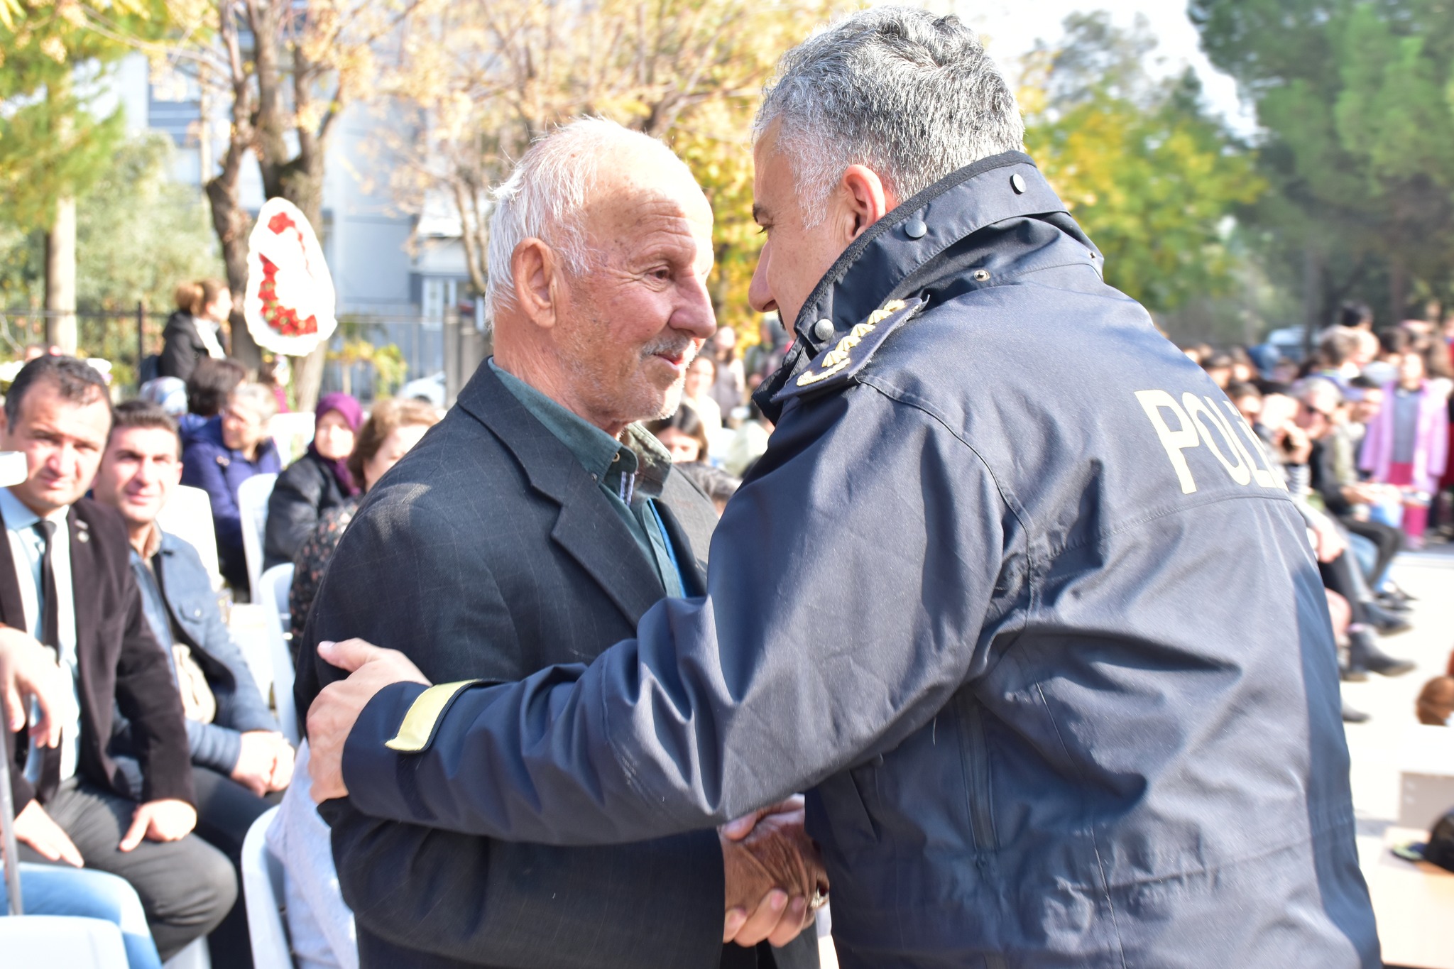
{"type": "MultiPolygon", "coordinates": [[[[660,506],[699,594],[712,506],[678,474],[660,506]]],[[[340,674],[317,660],[323,639],[401,649],[435,683],[518,680],[590,661],[662,596],[593,478],[481,366],[343,535],[304,633],[298,710],[340,674]]],[[[346,800],[323,814],[366,966],[772,965],[766,946],[721,946],[714,831],[560,848],[378,821],[346,800]]],[[[817,966],[811,933],[778,954],[817,966]]]]}

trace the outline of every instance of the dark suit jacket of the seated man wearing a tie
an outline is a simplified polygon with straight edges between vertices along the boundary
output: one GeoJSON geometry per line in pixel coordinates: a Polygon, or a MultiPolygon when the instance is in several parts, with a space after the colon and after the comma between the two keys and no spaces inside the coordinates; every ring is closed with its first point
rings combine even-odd
{"type": "MultiPolygon", "coordinates": [[[[172,661],[157,645],[141,610],[141,591],[131,572],[131,546],[121,516],[81,498],[71,506],[70,533],[81,697],[76,773],[103,790],[137,796],[106,754],[112,710],[119,709],[131,721],[134,750],[141,763],[141,799],[176,798],[196,803],[182,697],[172,681],[172,661]]],[[[9,545],[0,546],[0,622],[26,628],[9,545]]],[[[4,735],[4,753],[10,757],[10,790],[19,814],[35,798],[22,776],[29,739],[23,729],[10,734],[0,728],[0,735],[4,735]]]]}

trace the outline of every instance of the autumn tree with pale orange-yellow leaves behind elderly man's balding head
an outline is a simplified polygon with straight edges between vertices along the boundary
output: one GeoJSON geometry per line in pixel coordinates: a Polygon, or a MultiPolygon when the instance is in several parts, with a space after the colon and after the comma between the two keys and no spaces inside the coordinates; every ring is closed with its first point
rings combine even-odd
{"type": "Polygon", "coordinates": [[[446,199],[461,219],[470,282],[489,275],[490,187],[553,125],[601,115],[672,144],[715,215],[712,296],[747,318],[760,243],[750,205],[750,122],[774,64],[833,4],[819,0],[455,0],[401,44],[388,93],[411,125],[387,148],[407,206],[446,199]]]}

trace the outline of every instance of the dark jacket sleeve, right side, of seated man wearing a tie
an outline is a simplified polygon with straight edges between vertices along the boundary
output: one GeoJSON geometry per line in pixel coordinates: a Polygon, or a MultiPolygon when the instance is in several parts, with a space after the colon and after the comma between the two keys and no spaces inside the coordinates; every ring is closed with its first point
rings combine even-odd
{"type": "Polygon", "coordinates": [[[141,799],[174,798],[195,805],[182,697],[172,681],[167,655],[142,612],[137,577],[125,562],[121,572],[126,622],[116,661],[116,705],[131,721],[132,747],[141,764],[141,799]]]}

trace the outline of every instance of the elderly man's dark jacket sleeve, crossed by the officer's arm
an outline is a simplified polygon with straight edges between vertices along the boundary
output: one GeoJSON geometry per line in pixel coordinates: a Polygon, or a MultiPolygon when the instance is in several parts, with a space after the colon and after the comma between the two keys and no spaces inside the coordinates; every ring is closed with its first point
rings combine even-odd
{"type": "MultiPolygon", "coordinates": [[[[448,652],[467,648],[481,676],[502,671],[515,631],[478,551],[443,516],[394,511],[361,511],[329,565],[300,652],[300,710],[340,674],[317,660],[320,639],[390,642],[443,676],[458,671],[442,665],[448,652]],[[391,594],[378,594],[385,585],[391,594]]],[[[345,901],[359,925],[395,944],[465,962],[593,969],[720,957],[715,831],[579,850],[381,821],[346,799],[320,812],[333,828],[345,901]],[[648,938],[641,912],[651,912],[648,938]]]]}

